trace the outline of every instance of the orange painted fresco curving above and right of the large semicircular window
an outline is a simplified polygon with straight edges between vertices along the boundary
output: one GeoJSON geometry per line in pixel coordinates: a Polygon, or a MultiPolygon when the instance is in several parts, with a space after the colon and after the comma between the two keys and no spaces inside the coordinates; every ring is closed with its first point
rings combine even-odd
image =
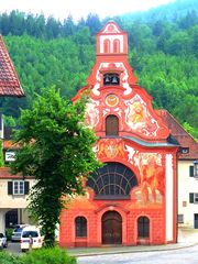
{"type": "Polygon", "coordinates": [[[102,139],[94,147],[99,160],[128,161],[139,172],[139,188],[135,199],[141,205],[162,204],[164,196],[165,169],[162,165],[162,154],[134,150],[121,139],[102,139]]]}

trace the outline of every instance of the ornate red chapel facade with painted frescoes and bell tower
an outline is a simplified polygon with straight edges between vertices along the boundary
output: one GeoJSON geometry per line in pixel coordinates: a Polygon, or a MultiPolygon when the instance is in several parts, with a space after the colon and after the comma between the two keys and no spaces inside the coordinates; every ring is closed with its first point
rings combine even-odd
{"type": "Polygon", "coordinates": [[[114,22],[97,34],[86,123],[103,167],[86,180],[86,195],[61,216],[61,246],[165,244],[177,241],[177,142],[128,62],[128,35],[114,22]]]}

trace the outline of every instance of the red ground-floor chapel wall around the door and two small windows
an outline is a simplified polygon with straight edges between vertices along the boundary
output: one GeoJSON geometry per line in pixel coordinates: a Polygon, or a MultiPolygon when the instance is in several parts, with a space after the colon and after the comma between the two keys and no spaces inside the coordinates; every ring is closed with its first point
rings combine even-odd
{"type": "MultiPolygon", "coordinates": [[[[80,198],[79,198],[80,199],[80,198]]],[[[84,199],[84,198],[81,198],[84,199]]],[[[78,200],[79,201],[79,200],[78,200]]],[[[122,245],[138,244],[162,244],[165,241],[165,211],[156,206],[151,208],[130,209],[130,201],[113,202],[85,202],[84,208],[79,208],[79,202],[73,205],[72,210],[64,210],[61,221],[61,246],[101,246],[102,244],[102,222],[101,218],[107,211],[117,211],[122,217],[122,245]],[[89,205],[89,206],[88,206],[89,205]],[[94,210],[95,208],[95,210],[94,210]],[[138,239],[138,218],[146,216],[150,219],[150,239],[138,239]],[[87,238],[76,238],[75,219],[85,217],[87,219],[87,238]]]]}

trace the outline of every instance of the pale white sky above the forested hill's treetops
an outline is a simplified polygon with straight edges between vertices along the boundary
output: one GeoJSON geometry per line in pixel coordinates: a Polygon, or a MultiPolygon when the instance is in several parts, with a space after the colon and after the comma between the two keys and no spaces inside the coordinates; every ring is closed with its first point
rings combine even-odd
{"type": "Polygon", "coordinates": [[[61,21],[72,15],[75,21],[97,13],[100,19],[128,12],[144,11],[175,0],[0,0],[0,13],[19,10],[53,15],[61,21]]]}

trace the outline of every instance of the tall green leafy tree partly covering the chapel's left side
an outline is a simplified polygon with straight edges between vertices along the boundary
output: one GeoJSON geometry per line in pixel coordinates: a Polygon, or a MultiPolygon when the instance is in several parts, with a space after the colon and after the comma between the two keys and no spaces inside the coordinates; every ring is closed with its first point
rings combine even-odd
{"type": "Polygon", "coordinates": [[[75,105],[62,99],[52,87],[21,113],[15,135],[21,148],[11,168],[36,179],[29,209],[42,226],[47,246],[54,245],[64,197],[84,194],[84,176],[100,165],[91,147],[97,139],[84,123],[85,106],[84,99],[75,105]]]}

